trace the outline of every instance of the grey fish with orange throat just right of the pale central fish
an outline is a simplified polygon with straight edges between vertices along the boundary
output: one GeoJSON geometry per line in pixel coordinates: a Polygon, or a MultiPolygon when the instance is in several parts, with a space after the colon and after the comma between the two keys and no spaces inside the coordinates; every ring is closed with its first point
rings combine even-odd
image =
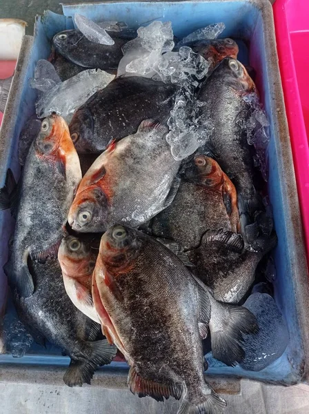
{"type": "Polygon", "coordinates": [[[152,233],[184,250],[196,248],[206,230],[239,232],[235,186],[217,162],[196,155],[187,165],[172,204],[152,219],[152,233]]]}

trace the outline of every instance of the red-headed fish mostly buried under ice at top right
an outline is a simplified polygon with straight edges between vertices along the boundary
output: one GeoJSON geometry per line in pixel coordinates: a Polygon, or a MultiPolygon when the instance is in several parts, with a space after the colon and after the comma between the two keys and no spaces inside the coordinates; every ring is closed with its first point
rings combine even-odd
{"type": "Polygon", "coordinates": [[[218,63],[225,57],[237,59],[239,47],[236,41],[227,37],[226,39],[203,39],[199,41],[190,41],[181,44],[177,49],[183,46],[190,47],[193,52],[198,53],[210,64],[208,75],[215,69],[218,63]]]}

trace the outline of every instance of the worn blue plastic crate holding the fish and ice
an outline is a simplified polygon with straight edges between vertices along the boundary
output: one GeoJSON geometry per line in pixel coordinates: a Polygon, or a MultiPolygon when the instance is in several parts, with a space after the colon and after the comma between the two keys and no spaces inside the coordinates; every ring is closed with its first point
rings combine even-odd
{"type": "MultiPolygon", "coordinates": [[[[306,320],[308,269],[270,3],[268,0],[117,1],[64,5],[63,13],[64,16],[47,12],[43,17],[38,17],[33,39],[25,37],[0,133],[0,186],[5,182],[8,167],[12,168],[15,176],[19,175],[19,132],[28,117],[34,113],[36,98],[36,92],[30,88],[28,80],[34,74],[37,60],[46,59],[50,55],[50,41],[54,34],[73,28],[74,13],[83,14],[94,21],[125,21],[130,28],[139,28],[156,19],[172,21],[177,37],[183,37],[210,23],[223,21],[226,30],[221,36],[239,39],[239,44],[242,45],[239,59],[245,63],[250,62],[257,71],[261,101],[270,119],[268,191],[279,240],[274,253],[277,268],[275,299],[286,319],[290,344],[281,358],[263,371],[250,372],[239,367],[223,367],[209,368],[207,372],[214,377],[228,376],[235,377],[235,380],[237,377],[246,377],[281,384],[305,381],[308,375],[306,355],[309,346],[306,320]]],[[[7,242],[13,226],[10,213],[0,212],[0,266],[6,262],[7,242]]],[[[0,281],[4,277],[0,271],[0,281]]],[[[66,366],[68,361],[68,357],[62,357],[57,349],[50,348],[47,351],[39,346],[34,346],[21,359],[0,355],[0,380],[6,380],[13,372],[15,378],[20,378],[21,376],[16,376],[20,368],[23,381],[27,381],[30,380],[33,367],[39,371],[50,367],[54,367],[54,371],[61,371],[60,367],[66,366]]],[[[123,377],[125,384],[128,366],[113,362],[111,366],[99,371],[103,375],[113,371],[115,375],[123,377]]]]}

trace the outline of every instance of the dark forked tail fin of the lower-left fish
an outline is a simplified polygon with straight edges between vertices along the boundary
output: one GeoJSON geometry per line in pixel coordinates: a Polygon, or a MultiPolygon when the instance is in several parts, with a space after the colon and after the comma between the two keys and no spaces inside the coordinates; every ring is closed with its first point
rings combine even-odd
{"type": "Polygon", "coordinates": [[[87,348],[83,352],[85,359],[71,359],[63,381],[68,386],[90,384],[94,371],[101,365],[110,364],[116,353],[116,346],[108,344],[106,339],[87,342],[87,348]]]}

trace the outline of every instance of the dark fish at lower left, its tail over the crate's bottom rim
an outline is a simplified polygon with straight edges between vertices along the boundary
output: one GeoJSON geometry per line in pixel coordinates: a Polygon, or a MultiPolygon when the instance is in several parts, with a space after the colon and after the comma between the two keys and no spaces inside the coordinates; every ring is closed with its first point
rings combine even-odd
{"type": "Polygon", "coordinates": [[[90,384],[94,371],[109,364],[117,348],[106,339],[97,340],[100,325],[72,304],[63,286],[57,258],[48,257],[45,263],[30,259],[29,267],[34,293],[21,298],[14,290],[14,304],[21,322],[34,339],[46,338],[70,357],[63,376],[68,386],[90,384]]]}

